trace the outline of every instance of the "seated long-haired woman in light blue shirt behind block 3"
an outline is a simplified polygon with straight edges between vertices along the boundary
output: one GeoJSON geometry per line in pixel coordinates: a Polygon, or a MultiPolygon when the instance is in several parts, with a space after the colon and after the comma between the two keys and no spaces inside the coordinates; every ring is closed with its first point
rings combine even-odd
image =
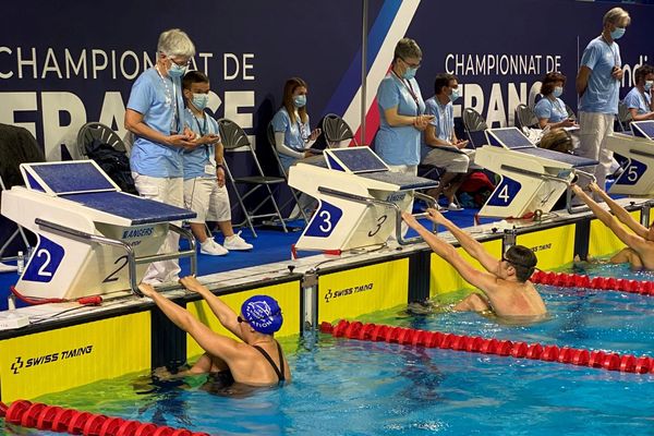
{"type": "MultiPolygon", "coordinates": [[[[275,131],[275,148],[281,160],[286,175],[296,160],[314,156],[308,148],[320,134],[320,129],[313,132],[306,113],[306,82],[300,77],[291,77],[283,85],[281,108],[272,118],[275,131]]],[[[318,158],[323,159],[322,156],[318,158]]]]}

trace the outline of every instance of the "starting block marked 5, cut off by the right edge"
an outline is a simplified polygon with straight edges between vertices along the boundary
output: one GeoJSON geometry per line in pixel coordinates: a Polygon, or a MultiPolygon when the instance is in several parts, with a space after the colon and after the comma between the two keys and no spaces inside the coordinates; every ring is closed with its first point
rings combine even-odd
{"type": "Polygon", "coordinates": [[[614,133],[606,147],[625,169],[608,192],[626,195],[654,195],[654,121],[632,121],[632,135],[614,133]]]}

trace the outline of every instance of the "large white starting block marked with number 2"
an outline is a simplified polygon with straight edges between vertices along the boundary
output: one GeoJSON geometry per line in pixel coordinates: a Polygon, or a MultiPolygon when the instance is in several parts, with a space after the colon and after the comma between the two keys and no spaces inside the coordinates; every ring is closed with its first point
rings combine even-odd
{"type": "Polygon", "coordinates": [[[26,186],[2,192],[1,213],[38,238],[16,283],[22,294],[138,293],[147,264],[182,256],[195,271],[193,237],[170,223],[194,217],[191,210],[120,192],[93,160],[22,164],[21,171],[26,186]],[[190,250],[157,254],[169,230],[190,250]]]}

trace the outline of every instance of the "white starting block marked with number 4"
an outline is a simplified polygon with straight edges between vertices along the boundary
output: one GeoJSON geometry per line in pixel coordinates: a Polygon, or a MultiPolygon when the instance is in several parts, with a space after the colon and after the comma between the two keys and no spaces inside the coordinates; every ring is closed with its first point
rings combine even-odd
{"type": "MultiPolygon", "coordinates": [[[[530,213],[552,210],[568,190],[576,173],[593,178],[581,167],[597,165],[596,160],[538,148],[518,128],[486,130],[488,145],[477,148],[474,162],[501,180],[480,216],[520,218],[530,213]]],[[[568,190],[568,210],[571,211],[568,190]]]]}

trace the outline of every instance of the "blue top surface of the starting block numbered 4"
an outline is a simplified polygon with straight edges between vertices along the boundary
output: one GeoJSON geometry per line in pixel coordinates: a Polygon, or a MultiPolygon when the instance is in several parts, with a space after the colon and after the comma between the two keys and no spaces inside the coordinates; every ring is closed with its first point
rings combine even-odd
{"type": "Polygon", "coordinates": [[[559,162],[572,166],[572,168],[592,167],[600,164],[594,159],[538,148],[518,128],[487,129],[486,140],[488,144],[496,147],[504,147],[545,159],[558,160],[559,162]]]}

